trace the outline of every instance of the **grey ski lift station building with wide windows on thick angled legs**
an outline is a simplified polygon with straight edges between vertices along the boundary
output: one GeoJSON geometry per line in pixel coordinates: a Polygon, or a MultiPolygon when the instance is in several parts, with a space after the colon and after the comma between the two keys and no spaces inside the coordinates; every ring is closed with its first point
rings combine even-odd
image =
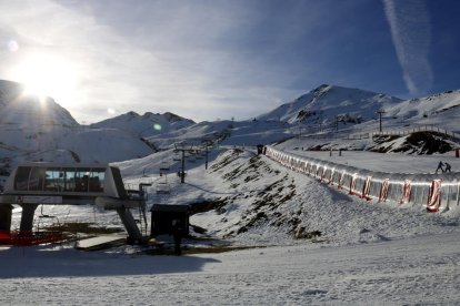
{"type": "Polygon", "coordinates": [[[20,164],[0,195],[0,231],[10,231],[12,204],[22,207],[20,232],[31,233],[38,205],[97,205],[116,210],[129,238],[142,238],[130,208],[143,208],[142,186],[127,191],[120,170],[104,164],[20,164]]]}

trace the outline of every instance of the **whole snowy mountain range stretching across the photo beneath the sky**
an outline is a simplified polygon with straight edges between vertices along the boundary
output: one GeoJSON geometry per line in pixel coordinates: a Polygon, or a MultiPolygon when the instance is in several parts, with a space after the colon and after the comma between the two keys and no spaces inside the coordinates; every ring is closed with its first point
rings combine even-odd
{"type": "Polygon", "coordinates": [[[21,84],[0,80],[0,163],[23,161],[108,163],[147,156],[178,142],[228,145],[279,142],[299,131],[376,131],[434,124],[459,132],[460,91],[401,100],[382,93],[323,84],[252,120],[196,123],[177,114],[133,111],[80,125],[53,99],[23,95],[21,84]]]}

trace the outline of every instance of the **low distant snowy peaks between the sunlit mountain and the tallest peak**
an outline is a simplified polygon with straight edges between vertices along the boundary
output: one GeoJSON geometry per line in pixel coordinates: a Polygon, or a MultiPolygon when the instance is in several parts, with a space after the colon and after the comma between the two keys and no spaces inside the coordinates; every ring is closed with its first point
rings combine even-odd
{"type": "Polygon", "coordinates": [[[90,128],[110,128],[131,132],[142,137],[177,131],[194,124],[190,119],[181,118],[177,114],[166,112],[163,114],[154,114],[147,112],[140,115],[136,112],[107,119],[104,121],[93,123],[90,128]]]}

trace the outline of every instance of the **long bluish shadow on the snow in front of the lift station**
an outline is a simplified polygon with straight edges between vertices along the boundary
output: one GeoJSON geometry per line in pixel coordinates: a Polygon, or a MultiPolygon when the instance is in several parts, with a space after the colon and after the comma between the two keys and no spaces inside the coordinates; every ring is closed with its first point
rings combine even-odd
{"type": "Polygon", "coordinates": [[[40,247],[0,248],[0,278],[94,277],[200,272],[214,258],[149,256],[40,247]]]}

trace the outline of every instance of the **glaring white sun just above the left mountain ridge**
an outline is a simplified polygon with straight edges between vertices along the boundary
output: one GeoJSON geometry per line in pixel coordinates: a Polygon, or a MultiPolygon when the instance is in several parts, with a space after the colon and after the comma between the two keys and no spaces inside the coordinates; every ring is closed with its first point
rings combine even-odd
{"type": "Polygon", "coordinates": [[[24,94],[51,96],[69,104],[77,89],[77,70],[72,63],[56,54],[34,53],[20,62],[14,79],[24,85],[24,94]]]}

